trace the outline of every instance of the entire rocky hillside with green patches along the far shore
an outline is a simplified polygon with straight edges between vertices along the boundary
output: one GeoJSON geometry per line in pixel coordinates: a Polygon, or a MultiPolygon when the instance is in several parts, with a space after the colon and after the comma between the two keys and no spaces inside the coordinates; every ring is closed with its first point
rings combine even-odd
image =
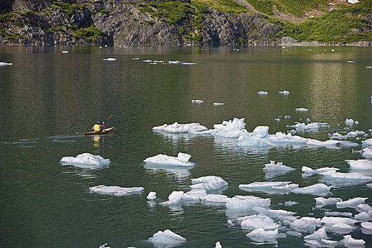
{"type": "Polygon", "coordinates": [[[372,0],[1,0],[0,45],[371,45],[372,0]]]}

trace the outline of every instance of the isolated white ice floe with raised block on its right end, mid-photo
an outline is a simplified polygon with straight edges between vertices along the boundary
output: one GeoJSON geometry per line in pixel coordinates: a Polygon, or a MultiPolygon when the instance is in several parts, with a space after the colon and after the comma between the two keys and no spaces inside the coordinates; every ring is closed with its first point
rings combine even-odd
{"type": "Polygon", "coordinates": [[[157,154],[154,157],[148,157],[143,160],[147,164],[167,164],[177,167],[193,167],[195,163],[189,162],[188,159],[191,158],[191,155],[179,152],[177,157],[171,157],[165,154],[157,154]]]}

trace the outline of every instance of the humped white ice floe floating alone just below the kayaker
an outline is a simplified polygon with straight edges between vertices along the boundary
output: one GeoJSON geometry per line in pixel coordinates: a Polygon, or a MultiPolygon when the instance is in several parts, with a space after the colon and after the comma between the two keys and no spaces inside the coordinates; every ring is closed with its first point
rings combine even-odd
{"type": "Polygon", "coordinates": [[[76,167],[98,169],[110,164],[110,159],[103,159],[99,155],[93,155],[90,153],[83,153],[77,155],[77,157],[62,157],[60,160],[62,164],[71,164],[76,167]]]}

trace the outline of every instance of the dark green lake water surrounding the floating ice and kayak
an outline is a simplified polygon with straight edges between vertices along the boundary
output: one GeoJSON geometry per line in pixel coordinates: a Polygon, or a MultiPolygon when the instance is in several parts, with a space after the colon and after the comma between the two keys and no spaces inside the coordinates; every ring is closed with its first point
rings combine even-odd
{"type": "MultiPolygon", "coordinates": [[[[170,229],[185,237],[179,247],[305,247],[303,237],[278,238],[278,244],[254,244],[249,230],[231,227],[236,218],[223,205],[159,205],[172,191],[188,191],[192,178],[221,176],[229,183],[222,193],[271,198],[272,209],[296,216],[322,218],[313,210],[317,196],[271,195],[240,191],[239,184],[265,181],[270,160],[296,170],[268,181],[292,181],[300,187],[321,176],[301,176],[301,167],[337,167],[349,171],[345,159],[361,159],[351,150],[277,147],[249,150],[235,140],[155,133],[164,123],[198,122],[207,128],[234,117],[246,118],[247,130],[268,125],[269,133],[305,121],[329,123],[303,137],[327,140],[328,133],[362,130],[371,137],[371,47],[0,47],[0,246],[1,247],[153,247],[147,242],[170,229]],[[311,49],[309,51],[308,49],[311,49]],[[334,49],[334,51],[331,51],[334,49]],[[62,53],[68,50],[69,53],[62,53]],[[115,57],[109,62],[103,58],[115,57]],[[139,57],[139,60],[133,60],[139,57]],[[182,64],[149,64],[143,60],[179,60],[182,64]],[[354,63],[347,61],[354,61],[354,63]],[[289,91],[288,96],[278,91],[289,91]],[[260,96],[258,91],[268,91],[260,96]],[[204,103],[191,103],[202,99],[204,103]],[[213,106],[215,102],[224,106],[213,106]],[[295,108],[308,108],[307,113],[295,108]],[[115,126],[113,135],[84,137],[97,120],[115,126]],[[278,116],[291,115],[280,122],[278,116]],[[359,121],[345,130],[344,120],[359,121]],[[369,131],[368,131],[369,130],[369,131]],[[64,156],[83,152],[111,160],[108,168],[79,169],[60,164],[64,156]],[[156,154],[191,154],[189,170],[154,169],[142,162],[156,154]],[[97,185],[145,188],[143,194],[112,197],[89,193],[97,185]],[[147,201],[150,191],[157,200],[147,201]],[[278,205],[296,201],[291,207],[278,205]]],[[[366,137],[361,137],[361,140],[366,137]]],[[[361,144],[361,140],[351,141],[361,144]]],[[[371,188],[354,184],[332,188],[332,197],[369,197],[371,188]]],[[[325,208],[337,209],[334,205],[325,208]]],[[[360,224],[356,224],[360,227],[360,224]]],[[[281,227],[279,232],[288,228],[281,227]]],[[[327,233],[332,240],[342,235],[327,233]]],[[[308,234],[303,234],[303,236],[308,234]]],[[[371,235],[357,228],[352,237],[372,247],[371,235]]]]}

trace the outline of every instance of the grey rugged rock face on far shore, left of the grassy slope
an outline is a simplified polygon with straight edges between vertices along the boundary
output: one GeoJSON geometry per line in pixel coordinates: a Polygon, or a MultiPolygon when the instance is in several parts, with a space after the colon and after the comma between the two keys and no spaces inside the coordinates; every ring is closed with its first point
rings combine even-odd
{"type": "Polygon", "coordinates": [[[254,13],[209,9],[196,26],[192,16],[169,23],[141,12],[131,1],[81,1],[82,6],[72,12],[52,3],[1,0],[13,10],[34,12],[14,13],[11,20],[0,23],[0,45],[274,45],[281,30],[254,13]],[[91,28],[103,33],[89,33],[91,28]]]}

